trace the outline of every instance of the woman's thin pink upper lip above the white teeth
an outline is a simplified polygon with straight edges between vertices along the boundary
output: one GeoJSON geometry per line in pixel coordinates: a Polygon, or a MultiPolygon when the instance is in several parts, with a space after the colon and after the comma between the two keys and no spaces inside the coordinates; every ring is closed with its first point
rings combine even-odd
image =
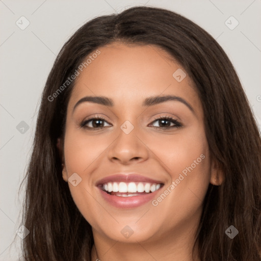
{"type": "Polygon", "coordinates": [[[161,180],[152,179],[137,173],[117,173],[98,180],[96,186],[108,182],[147,182],[152,184],[163,184],[161,180]]]}

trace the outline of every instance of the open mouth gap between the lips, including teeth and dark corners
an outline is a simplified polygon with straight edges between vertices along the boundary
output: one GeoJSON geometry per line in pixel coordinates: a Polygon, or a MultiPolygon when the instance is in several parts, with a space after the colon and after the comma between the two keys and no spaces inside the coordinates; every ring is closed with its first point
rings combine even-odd
{"type": "Polygon", "coordinates": [[[146,195],[159,190],[164,184],[150,182],[106,182],[99,189],[118,197],[134,197],[146,195]]]}

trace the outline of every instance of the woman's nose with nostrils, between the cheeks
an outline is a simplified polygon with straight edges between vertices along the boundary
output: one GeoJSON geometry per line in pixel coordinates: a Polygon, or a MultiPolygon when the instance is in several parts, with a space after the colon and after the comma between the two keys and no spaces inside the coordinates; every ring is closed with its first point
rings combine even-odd
{"type": "MultiPolygon", "coordinates": [[[[109,160],[115,163],[129,165],[133,162],[143,162],[148,159],[149,149],[139,137],[138,128],[134,127],[129,134],[124,133],[121,129],[119,136],[110,146],[108,151],[109,160]]],[[[140,135],[141,136],[141,135],[140,135]]]]}

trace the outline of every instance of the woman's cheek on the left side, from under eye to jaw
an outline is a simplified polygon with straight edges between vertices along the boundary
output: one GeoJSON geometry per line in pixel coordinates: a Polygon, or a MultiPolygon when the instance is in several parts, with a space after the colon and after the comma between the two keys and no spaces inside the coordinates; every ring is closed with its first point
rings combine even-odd
{"type": "Polygon", "coordinates": [[[96,224],[97,217],[104,216],[104,209],[92,196],[95,181],[92,173],[102,165],[101,161],[111,142],[111,138],[104,136],[87,136],[71,125],[66,129],[64,155],[67,176],[70,179],[76,173],[81,180],[75,187],[68,180],[69,189],[77,208],[92,225],[96,224]]]}

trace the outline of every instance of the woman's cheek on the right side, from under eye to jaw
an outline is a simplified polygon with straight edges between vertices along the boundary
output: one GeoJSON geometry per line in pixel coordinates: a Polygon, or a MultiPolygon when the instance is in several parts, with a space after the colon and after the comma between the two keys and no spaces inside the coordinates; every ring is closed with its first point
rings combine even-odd
{"type": "Polygon", "coordinates": [[[211,164],[204,129],[188,128],[162,139],[161,149],[156,151],[170,181],[153,205],[170,224],[182,223],[201,210],[210,183],[211,164]]]}

